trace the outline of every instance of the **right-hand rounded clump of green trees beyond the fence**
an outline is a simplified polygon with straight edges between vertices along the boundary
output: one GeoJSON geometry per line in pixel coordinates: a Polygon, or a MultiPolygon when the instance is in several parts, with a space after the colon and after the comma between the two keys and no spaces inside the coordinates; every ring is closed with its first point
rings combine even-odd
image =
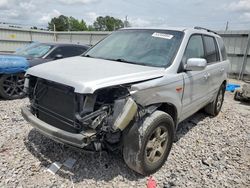
{"type": "Polygon", "coordinates": [[[114,31],[124,27],[122,20],[111,16],[99,16],[93,24],[96,31],[114,31]]]}

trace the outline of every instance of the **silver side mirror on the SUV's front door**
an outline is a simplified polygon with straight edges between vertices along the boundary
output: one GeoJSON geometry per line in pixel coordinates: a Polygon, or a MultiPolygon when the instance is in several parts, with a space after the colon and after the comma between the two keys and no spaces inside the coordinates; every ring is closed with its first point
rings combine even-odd
{"type": "Polygon", "coordinates": [[[207,66],[207,60],[203,58],[189,58],[185,65],[186,71],[201,71],[207,66]]]}

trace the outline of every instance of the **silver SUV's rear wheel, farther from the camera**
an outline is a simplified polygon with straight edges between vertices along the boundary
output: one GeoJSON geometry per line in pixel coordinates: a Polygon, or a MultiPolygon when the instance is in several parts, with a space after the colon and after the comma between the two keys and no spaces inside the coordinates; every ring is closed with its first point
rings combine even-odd
{"type": "Polygon", "coordinates": [[[205,112],[211,116],[217,116],[221,110],[225,95],[225,85],[222,84],[213,102],[205,107],[205,112]]]}

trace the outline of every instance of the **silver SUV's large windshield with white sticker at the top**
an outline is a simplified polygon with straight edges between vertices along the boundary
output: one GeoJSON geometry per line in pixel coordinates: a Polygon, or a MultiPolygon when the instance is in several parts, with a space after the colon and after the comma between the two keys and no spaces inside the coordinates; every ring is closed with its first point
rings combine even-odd
{"type": "Polygon", "coordinates": [[[171,64],[183,32],[120,30],[90,49],[85,56],[154,67],[171,64]]]}

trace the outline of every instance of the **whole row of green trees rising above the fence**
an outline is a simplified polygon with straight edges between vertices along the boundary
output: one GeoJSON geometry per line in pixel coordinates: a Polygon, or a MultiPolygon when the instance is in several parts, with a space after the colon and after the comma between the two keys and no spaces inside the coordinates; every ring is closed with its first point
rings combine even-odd
{"type": "MultiPolygon", "coordinates": [[[[60,15],[54,17],[48,23],[48,30],[51,31],[114,31],[123,27],[129,27],[130,23],[122,21],[112,16],[99,16],[94,21],[93,25],[87,25],[86,22],[81,19],[78,20],[72,16],[67,17],[60,15]]],[[[34,28],[35,29],[35,28],[34,28]]]]}

